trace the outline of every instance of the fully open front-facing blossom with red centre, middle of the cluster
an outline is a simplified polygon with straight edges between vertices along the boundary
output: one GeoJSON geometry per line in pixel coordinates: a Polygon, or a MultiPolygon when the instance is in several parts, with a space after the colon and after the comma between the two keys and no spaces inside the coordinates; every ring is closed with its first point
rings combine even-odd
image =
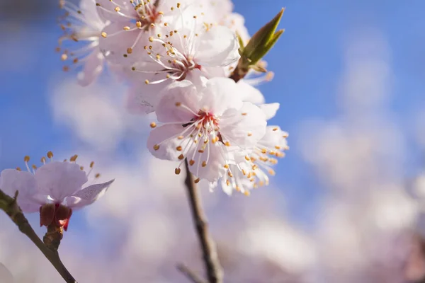
{"type": "Polygon", "coordinates": [[[249,153],[266,132],[266,117],[261,109],[242,102],[232,79],[213,78],[196,86],[191,81],[172,84],[164,90],[157,106],[147,145],[161,159],[187,158],[191,172],[210,182],[227,173],[234,154],[249,153]]]}

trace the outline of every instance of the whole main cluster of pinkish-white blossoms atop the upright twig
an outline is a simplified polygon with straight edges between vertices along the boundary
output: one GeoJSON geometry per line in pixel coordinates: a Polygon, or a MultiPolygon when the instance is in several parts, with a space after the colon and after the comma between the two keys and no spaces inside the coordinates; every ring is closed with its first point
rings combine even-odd
{"type": "Polygon", "coordinates": [[[62,60],[79,69],[82,86],[106,67],[128,83],[128,110],[157,117],[147,141],[154,156],[179,162],[176,174],[188,162],[196,183],[205,179],[229,195],[268,184],[288,134],[268,125],[279,104],[265,103],[256,88],[273,77],[259,74],[265,62],[242,80],[230,78],[249,42],[231,1],[60,3],[62,60]]]}

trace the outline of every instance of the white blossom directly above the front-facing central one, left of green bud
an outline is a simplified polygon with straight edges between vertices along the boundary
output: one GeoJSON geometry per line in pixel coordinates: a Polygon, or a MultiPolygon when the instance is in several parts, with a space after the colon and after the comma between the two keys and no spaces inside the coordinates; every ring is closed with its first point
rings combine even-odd
{"type": "Polygon", "coordinates": [[[225,76],[228,66],[239,60],[234,32],[202,17],[193,16],[193,10],[181,11],[175,23],[162,23],[162,32],[148,37],[147,53],[131,67],[130,105],[142,102],[141,112],[152,112],[151,101],[159,100],[157,93],[173,81],[225,76]]]}

